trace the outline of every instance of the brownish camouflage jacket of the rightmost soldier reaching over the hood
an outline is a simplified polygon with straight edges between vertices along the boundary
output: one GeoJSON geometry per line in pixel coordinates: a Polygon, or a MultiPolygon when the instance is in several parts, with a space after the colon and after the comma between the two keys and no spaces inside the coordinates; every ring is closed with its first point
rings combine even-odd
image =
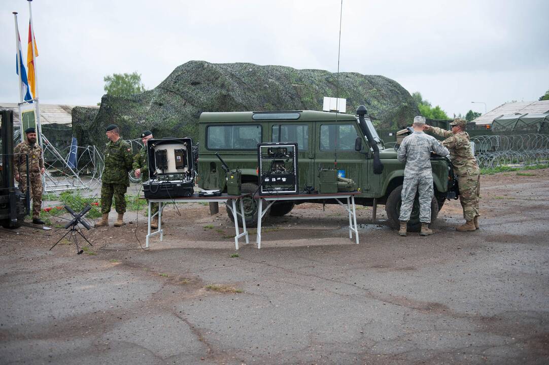
{"type": "Polygon", "coordinates": [[[430,127],[429,132],[446,138],[442,144],[450,150],[454,172],[458,175],[465,173],[468,169],[478,169],[477,159],[471,150],[471,142],[467,132],[453,134],[451,131],[438,127],[430,127]]]}

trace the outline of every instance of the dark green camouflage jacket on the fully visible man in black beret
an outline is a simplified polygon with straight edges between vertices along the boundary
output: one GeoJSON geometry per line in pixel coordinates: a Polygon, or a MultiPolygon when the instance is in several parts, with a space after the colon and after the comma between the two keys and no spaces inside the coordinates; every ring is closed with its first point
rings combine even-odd
{"type": "Polygon", "coordinates": [[[128,172],[132,169],[132,148],[130,144],[119,138],[118,141],[107,142],[104,151],[105,167],[101,181],[110,184],[126,184],[130,186],[128,172]]]}

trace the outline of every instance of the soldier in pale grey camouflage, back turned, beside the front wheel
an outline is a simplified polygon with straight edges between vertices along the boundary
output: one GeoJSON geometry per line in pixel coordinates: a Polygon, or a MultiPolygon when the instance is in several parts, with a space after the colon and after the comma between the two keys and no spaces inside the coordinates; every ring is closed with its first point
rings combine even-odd
{"type": "Polygon", "coordinates": [[[406,228],[412,214],[413,201],[419,191],[419,221],[421,235],[433,234],[429,229],[431,222],[431,201],[433,200],[433,170],[431,167],[431,152],[446,156],[449,152],[434,137],[423,133],[425,118],[416,116],[413,119],[414,132],[404,138],[397,153],[400,162],[406,162],[404,183],[402,183],[400,206],[399,235],[406,235],[406,228]]]}

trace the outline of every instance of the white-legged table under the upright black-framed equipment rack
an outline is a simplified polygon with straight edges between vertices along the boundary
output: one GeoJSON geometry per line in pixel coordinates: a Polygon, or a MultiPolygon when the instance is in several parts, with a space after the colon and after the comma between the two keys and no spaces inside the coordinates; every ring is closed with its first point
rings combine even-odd
{"type": "Polygon", "coordinates": [[[352,239],[352,233],[355,233],[356,244],[358,244],[358,228],[356,225],[356,209],[355,209],[355,195],[359,192],[350,193],[333,193],[333,194],[294,194],[294,195],[255,195],[255,199],[259,199],[257,205],[257,249],[261,248],[261,221],[268,209],[280,200],[312,200],[312,199],[335,199],[339,205],[343,206],[349,213],[349,239],[352,239]],[[341,203],[339,199],[347,199],[347,204],[341,203]],[[271,202],[263,209],[263,200],[271,202]]]}

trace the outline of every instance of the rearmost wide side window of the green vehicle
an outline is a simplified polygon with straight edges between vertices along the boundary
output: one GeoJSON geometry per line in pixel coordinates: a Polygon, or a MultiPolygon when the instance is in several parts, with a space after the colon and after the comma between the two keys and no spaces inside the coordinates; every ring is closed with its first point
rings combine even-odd
{"type": "Polygon", "coordinates": [[[206,130],[208,149],[257,149],[261,126],[209,126],[206,130]]]}

